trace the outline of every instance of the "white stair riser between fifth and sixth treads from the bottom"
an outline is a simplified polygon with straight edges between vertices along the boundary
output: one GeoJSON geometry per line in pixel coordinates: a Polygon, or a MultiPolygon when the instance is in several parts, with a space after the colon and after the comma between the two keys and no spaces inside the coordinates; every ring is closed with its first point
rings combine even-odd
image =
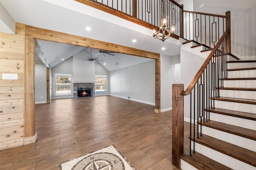
{"type": "Polygon", "coordinates": [[[244,90],[220,90],[221,97],[228,98],[242,98],[256,100],[256,91],[244,91],[244,90]]]}

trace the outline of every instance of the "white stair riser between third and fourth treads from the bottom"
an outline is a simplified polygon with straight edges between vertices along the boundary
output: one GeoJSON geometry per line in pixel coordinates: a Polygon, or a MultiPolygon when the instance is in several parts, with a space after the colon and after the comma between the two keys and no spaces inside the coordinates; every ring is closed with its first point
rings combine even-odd
{"type": "Polygon", "coordinates": [[[243,127],[246,129],[252,129],[256,131],[256,121],[253,121],[253,120],[242,119],[239,117],[232,117],[232,116],[222,115],[218,113],[210,113],[210,120],[243,127]]]}

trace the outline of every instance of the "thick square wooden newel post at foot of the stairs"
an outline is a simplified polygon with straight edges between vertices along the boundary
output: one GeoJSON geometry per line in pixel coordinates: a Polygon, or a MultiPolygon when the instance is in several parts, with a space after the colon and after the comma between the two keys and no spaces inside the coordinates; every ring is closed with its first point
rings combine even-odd
{"type": "Polygon", "coordinates": [[[184,99],[180,94],[183,89],[183,84],[172,84],[172,164],[177,168],[184,152],[184,99]]]}

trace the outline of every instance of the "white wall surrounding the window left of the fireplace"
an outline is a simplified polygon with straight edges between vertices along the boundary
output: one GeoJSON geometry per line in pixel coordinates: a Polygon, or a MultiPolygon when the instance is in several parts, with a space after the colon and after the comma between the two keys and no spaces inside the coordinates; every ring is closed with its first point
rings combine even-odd
{"type": "Polygon", "coordinates": [[[63,61],[62,63],[52,67],[52,98],[73,98],[73,83],[71,82],[71,94],[64,96],[56,96],[55,92],[55,74],[72,74],[73,72],[73,57],[63,61]]]}

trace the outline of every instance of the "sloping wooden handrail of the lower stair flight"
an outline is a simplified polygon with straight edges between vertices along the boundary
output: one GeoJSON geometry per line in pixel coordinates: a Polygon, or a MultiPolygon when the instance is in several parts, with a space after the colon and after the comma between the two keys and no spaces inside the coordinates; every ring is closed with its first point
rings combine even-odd
{"type": "Polygon", "coordinates": [[[180,94],[186,96],[186,95],[188,95],[188,94],[190,94],[192,92],[192,90],[193,90],[194,86],[196,85],[197,81],[199,80],[200,76],[203,74],[205,68],[210,63],[212,57],[214,56],[214,53],[218,50],[220,44],[222,43],[223,39],[228,35],[228,33],[229,33],[229,29],[226,30],[224,32],[224,34],[220,37],[218,43],[216,43],[215,47],[212,49],[212,52],[209,54],[207,59],[204,61],[204,63],[202,64],[201,68],[199,69],[199,71],[196,73],[196,76],[193,78],[193,80],[189,84],[189,86],[186,89],[186,91],[182,91],[180,94]]]}

